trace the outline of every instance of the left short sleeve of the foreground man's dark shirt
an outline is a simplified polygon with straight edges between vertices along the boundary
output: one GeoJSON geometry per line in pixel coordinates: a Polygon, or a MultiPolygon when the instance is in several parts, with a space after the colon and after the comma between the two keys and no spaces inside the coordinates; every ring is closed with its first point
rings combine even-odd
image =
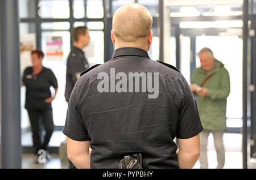
{"type": "Polygon", "coordinates": [[[76,141],[84,142],[90,141],[90,137],[88,135],[88,130],[82,122],[82,117],[80,113],[77,111],[77,92],[79,90],[74,88],[70,100],[68,102],[68,110],[67,110],[67,118],[65,122],[65,126],[63,129],[63,133],[76,141]]]}

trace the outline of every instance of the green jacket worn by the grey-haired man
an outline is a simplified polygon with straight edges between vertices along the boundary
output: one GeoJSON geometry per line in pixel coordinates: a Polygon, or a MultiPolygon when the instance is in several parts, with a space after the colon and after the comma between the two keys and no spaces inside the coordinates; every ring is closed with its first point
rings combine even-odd
{"type": "Polygon", "coordinates": [[[203,68],[196,68],[193,71],[191,83],[200,85],[203,81],[214,74],[203,87],[208,88],[205,97],[196,96],[197,107],[204,130],[225,130],[226,128],[226,98],[230,92],[229,72],[224,65],[215,59],[215,64],[208,74],[203,68]]]}

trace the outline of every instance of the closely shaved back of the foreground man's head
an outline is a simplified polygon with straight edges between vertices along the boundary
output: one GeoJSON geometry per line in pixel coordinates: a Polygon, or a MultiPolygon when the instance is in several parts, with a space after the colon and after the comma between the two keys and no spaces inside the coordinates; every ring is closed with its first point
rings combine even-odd
{"type": "Polygon", "coordinates": [[[151,27],[150,12],[138,3],[128,3],[119,7],[113,16],[113,33],[119,42],[147,40],[151,27]]]}

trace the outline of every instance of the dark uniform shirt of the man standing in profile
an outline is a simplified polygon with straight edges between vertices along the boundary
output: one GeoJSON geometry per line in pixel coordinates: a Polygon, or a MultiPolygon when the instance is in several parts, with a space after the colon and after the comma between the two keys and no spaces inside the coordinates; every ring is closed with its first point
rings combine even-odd
{"type": "Polygon", "coordinates": [[[66,87],[65,87],[65,100],[68,102],[72,89],[76,84],[77,75],[80,75],[82,71],[89,68],[87,59],[84,52],[73,46],[67,59],[67,72],[66,72],[66,87]]]}

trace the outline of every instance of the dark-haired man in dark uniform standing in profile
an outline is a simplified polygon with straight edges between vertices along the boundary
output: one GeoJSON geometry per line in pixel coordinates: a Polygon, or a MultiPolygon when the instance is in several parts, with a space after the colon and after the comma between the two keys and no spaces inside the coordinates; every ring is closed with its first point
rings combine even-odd
{"type": "MultiPolygon", "coordinates": [[[[90,36],[87,27],[76,27],[73,29],[72,36],[74,39],[73,47],[67,59],[67,72],[66,72],[66,87],[65,87],[65,100],[68,102],[72,89],[76,84],[82,71],[89,68],[89,63],[85,58],[85,53],[82,51],[85,46],[89,44],[90,36]]],[[[69,168],[75,169],[76,167],[69,161],[69,168]]]]}

